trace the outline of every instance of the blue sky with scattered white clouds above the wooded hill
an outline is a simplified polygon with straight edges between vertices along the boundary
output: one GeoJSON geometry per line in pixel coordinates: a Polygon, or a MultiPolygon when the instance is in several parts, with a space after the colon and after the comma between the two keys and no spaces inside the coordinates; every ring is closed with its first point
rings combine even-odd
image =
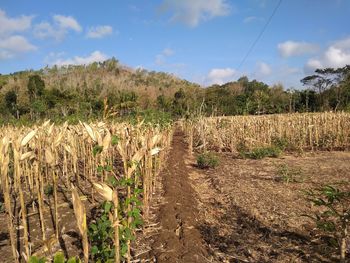
{"type": "Polygon", "coordinates": [[[1,0],[0,73],[115,57],[203,86],[245,75],[300,89],[316,68],[350,64],[350,0],[279,2],[1,0]]]}

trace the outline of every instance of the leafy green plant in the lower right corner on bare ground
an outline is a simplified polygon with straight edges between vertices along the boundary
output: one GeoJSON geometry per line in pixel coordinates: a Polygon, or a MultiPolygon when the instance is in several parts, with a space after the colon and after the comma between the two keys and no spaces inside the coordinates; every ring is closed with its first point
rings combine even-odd
{"type": "Polygon", "coordinates": [[[326,185],[308,190],[306,194],[307,199],[320,209],[314,215],[305,216],[311,218],[318,229],[333,235],[340,249],[341,262],[345,262],[350,223],[350,191],[326,185]]]}

